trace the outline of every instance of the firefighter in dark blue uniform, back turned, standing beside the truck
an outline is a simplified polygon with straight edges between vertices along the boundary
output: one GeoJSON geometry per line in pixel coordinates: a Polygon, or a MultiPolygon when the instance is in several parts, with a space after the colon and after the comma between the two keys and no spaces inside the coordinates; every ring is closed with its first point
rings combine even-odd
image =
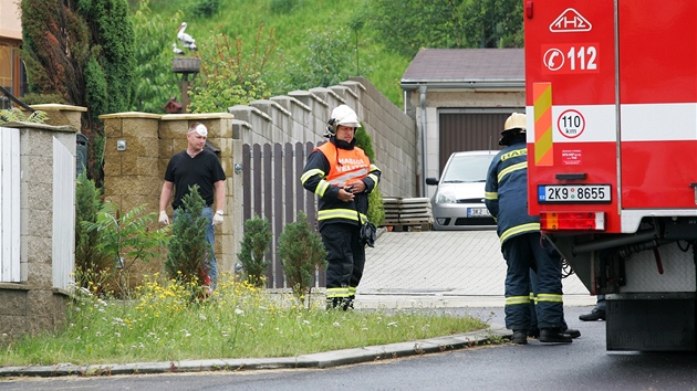
{"type": "Polygon", "coordinates": [[[562,264],[549,243],[543,243],[538,216],[528,214],[527,118],[513,113],[503,126],[499,145],[506,146],[491,161],[487,175],[485,203],[497,219],[501,253],[507,263],[506,327],[511,341],[528,342],[530,327],[530,270],[538,274],[538,326],[541,342],[569,344],[562,331],[562,264]]]}

